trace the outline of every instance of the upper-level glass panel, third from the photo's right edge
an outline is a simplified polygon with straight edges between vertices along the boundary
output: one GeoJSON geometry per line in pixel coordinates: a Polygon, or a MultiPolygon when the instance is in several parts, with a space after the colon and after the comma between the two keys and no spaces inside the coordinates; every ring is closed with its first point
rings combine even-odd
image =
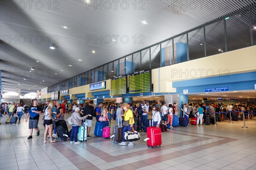
{"type": "Polygon", "coordinates": [[[211,56],[225,51],[224,21],[205,26],[206,55],[211,56]]]}

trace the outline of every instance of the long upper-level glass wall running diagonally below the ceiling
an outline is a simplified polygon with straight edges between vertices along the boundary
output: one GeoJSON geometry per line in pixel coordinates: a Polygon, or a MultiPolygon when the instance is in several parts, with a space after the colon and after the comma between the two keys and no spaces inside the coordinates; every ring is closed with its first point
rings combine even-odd
{"type": "Polygon", "coordinates": [[[256,4],[48,87],[61,91],[256,45],[256,4]]]}

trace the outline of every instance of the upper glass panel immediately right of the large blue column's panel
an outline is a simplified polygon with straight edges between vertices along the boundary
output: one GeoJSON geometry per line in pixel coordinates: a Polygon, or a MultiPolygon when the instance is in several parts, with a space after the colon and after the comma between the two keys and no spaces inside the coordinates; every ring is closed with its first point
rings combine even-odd
{"type": "Polygon", "coordinates": [[[204,28],[189,32],[189,60],[204,57],[204,28]]]}

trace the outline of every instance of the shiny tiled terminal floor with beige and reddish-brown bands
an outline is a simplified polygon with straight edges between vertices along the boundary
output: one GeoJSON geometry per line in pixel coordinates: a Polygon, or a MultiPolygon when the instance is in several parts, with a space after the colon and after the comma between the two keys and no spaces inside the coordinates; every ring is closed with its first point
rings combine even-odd
{"type": "Polygon", "coordinates": [[[16,125],[6,125],[7,117],[1,118],[0,170],[256,169],[256,119],[246,121],[248,129],[241,128],[241,121],[175,127],[162,133],[161,147],[152,149],[144,142],[143,132],[131,147],[100,137],[78,145],[70,141],[43,144],[43,122],[39,122],[41,135],[27,140],[29,129],[24,117],[16,125]]]}

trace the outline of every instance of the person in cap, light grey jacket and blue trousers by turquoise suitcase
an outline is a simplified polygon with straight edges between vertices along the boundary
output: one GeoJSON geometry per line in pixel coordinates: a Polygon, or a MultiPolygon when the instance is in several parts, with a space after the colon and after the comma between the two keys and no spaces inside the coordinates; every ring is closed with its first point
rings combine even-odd
{"type": "Polygon", "coordinates": [[[80,109],[75,108],[75,111],[71,114],[71,116],[67,119],[68,122],[72,123],[72,131],[70,134],[70,143],[75,142],[75,144],[79,144],[80,141],[77,140],[77,135],[79,131],[79,127],[81,126],[82,120],[86,119],[87,116],[80,116],[80,109]]]}

